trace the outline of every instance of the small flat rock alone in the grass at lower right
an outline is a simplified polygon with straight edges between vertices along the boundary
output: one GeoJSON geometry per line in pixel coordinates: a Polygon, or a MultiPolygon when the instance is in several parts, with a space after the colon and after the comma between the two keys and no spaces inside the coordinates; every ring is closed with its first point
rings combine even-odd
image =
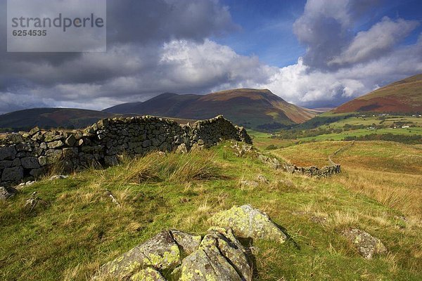
{"type": "Polygon", "coordinates": [[[372,259],[376,254],[385,254],[387,252],[387,248],[385,248],[381,240],[366,233],[364,230],[350,228],[344,230],[343,235],[354,244],[359,254],[365,259],[372,259]]]}

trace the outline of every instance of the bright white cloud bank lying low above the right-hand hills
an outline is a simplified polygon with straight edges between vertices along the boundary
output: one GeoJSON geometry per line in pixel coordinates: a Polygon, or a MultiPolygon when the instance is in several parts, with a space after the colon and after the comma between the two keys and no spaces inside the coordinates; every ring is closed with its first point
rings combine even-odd
{"type": "Polygon", "coordinates": [[[420,39],[414,45],[396,49],[376,60],[331,72],[313,70],[300,58],[297,64],[280,68],[268,84],[255,86],[271,89],[282,98],[300,105],[338,105],[373,91],[379,84],[421,72],[420,39]]]}

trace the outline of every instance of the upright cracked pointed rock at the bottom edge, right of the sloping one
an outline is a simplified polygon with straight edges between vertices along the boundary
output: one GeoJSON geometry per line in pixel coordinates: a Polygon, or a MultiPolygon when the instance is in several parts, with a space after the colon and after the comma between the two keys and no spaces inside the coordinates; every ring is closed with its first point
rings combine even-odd
{"type": "Polygon", "coordinates": [[[251,280],[250,265],[242,245],[230,230],[211,228],[199,249],[183,260],[179,280],[251,280]]]}

